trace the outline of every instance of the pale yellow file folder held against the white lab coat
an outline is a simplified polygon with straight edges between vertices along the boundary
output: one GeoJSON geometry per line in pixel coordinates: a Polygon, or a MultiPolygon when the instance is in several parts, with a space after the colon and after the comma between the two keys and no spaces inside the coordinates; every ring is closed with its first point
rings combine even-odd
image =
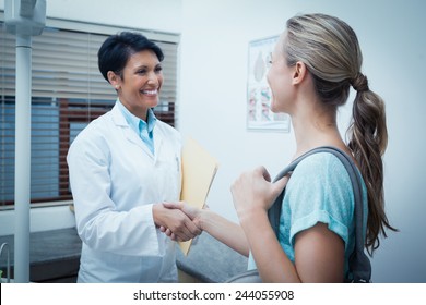
{"type": "MultiPolygon", "coordinates": [[[[217,168],[217,161],[199,143],[187,138],[182,148],[180,200],[197,208],[203,208],[217,168]]],[[[188,255],[191,243],[192,240],[179,242],[185,255],[188,255]]]]}

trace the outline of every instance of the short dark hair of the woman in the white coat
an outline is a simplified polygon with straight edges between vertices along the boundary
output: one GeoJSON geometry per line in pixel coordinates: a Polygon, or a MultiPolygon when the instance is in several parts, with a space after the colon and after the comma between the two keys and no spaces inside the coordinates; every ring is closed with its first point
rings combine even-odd
{"type": "Polygon", "coordinates": [[[121,32],[109,36],[97,52],[98,66],[102,75],[107,81],[108,71],[121,75],[129,58],[143,50],[152,50],[159,61],[164,59],[162,49],[140,33],[121,32]]]}

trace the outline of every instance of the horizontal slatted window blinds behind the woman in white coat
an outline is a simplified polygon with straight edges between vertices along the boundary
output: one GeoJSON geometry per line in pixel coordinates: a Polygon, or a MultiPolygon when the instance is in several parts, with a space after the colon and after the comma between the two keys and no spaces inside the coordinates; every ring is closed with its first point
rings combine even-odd
{"type": "MultiPolygon", "coordinates": [[[[84,28],[84,24],[78,25],[84,28]]],[[[69,146],[92,120],[110,110],[117,98],[98,71],[97,51],[109,36],[102,32],[119,30],[90,24],[86,28],[103,30],[91,33],[48,26],[40,36],[33,37],[32,203],[72,198],[66,160],[69,146]]],[[[165,54],[165,82],[154,112],[159,120],[175,126],[178,44],[176,38],[170,40],[156,41],[165,54]]],[[[15,36],[7,33],[1,21],[0,84],[0,206],[5,206],[14,200],[15,36]]]]}

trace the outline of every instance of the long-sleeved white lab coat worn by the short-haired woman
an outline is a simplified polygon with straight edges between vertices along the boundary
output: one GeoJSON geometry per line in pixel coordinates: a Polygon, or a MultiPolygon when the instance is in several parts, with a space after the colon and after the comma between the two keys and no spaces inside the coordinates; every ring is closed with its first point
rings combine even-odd
{"type": "Polygon", "coordinates": [[[116,105],[72,143],[67,161],[83,242],[79,282],[176,282],[175,243],[152,205],[179,199],[179,133],[157,120],[155,156],[116,105]]]}

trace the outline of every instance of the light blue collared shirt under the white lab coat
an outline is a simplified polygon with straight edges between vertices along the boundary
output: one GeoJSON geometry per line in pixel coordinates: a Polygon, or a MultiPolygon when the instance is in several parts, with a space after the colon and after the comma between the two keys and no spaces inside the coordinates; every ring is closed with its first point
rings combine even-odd
{"type": "Polygon", "coordinates": [[[129,126],[139,135],[143,143],[150,148],[154,155],[154,126],[157,121],[154,112],[150,109],[146,113],[146,122],[139,119],[137,115],[131,113],[119,99],[117,99],[118,107],[121,113],[125,115],[129,126]]]}

